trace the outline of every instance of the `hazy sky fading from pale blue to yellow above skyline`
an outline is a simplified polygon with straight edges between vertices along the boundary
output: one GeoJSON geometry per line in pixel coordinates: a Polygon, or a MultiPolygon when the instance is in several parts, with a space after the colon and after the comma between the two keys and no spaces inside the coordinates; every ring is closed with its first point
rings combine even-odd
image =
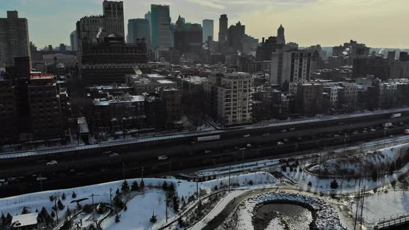
{"type": "MultiPolygon", "coordinates": [[[[42,48],[69,44],[76,21],[86,15],[102,15],[103,0],[0,0],[0,17],[7,10],[19,11],[28,19],[30,40],[42,48]]],[[[282,24],[286,42],[300,46],[336,46],[350,39],[367,46],[409,48],[408,0],[123,0],[125,33],[128,19],[143,18],[150,4],[171,7],[172,21],[202,23],[227,14],[229,25],[241,21],[253,37],[277,35],[282,24]]]]}

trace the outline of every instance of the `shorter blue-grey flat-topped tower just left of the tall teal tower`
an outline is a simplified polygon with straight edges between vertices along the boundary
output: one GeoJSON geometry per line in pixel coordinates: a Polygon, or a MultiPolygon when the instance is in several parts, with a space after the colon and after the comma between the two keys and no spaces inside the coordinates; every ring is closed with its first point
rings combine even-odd
{"type": "Polygon", "coordinates": [[[146,46],[150,47],[150,26],[148,19],[129,19],[127,43],[136,43],[137,39],[145,39],[146,46]]]}

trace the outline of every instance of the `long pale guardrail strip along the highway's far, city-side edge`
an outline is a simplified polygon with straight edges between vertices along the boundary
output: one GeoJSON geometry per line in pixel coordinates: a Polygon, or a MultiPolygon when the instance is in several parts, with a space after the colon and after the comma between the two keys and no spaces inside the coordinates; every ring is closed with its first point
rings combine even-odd
{"type": "Polygon", "coordinates": [[[381,114],[390,114],[394,112],[407,112],[409,108],[400,108],[400,109],[390,109],[390,110],[378,110],[375,112],[365,112],[360,114],[345,114],[345,115],[338,115],[338,116],[327,116],[322,118],[309,118],[303,119],[299,121],[282,121],[277,123],[267,123],[261,125],[243,125],[238,127],[230,127],[224,130],[209,130],[209,131],[199,131],[199,132],[184,132],[181,134],[164,134],[159,136],[148,136],[148,137],[141,137],[137,139],[130,139],[130,140],[119,140],[119,141],[110,141],[106,143],[97,143],[93,145],[80,145],[80,146],[71,146],[71,147],[64,147],[64,148],[53,148],[47,150],[31,150],[31,151],[24,151],[24,152],[12,152],[6,154],[0,154],[0,159],[11,159],[11,158],[19,158],[19,157],[31,157],[37,156],[42,154],[58,154],[61,152],[73,152],[78,150],[89,150],[89,149],[96,149],[96,148],[109,148],[118,145],[127,145],[127,144],[135,144],[135,143],[144,143],[150,141],[161,141],[167,139],[177,139],[189,136],[203,136],[203,135],[211,135],[211,134],[221,134],[223,132],[232,132],[232,131],[244,131],[244,130],[256,130],[259,128],[266,128],[266,127],[280,127],[280,126],[288,126],[288,125],[299,125],[305,123],[318,123],[323,121],[336,121],[342,120],[347,118],[357,118],[363,116],[375,116],[381,114]]]}

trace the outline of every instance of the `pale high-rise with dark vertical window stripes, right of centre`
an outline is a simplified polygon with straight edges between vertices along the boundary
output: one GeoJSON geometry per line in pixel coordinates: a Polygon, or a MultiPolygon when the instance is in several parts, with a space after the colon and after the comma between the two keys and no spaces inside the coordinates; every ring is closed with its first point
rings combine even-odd
{"type": "Polygon", "coordinates": [[[282,51],[272,53],[270,84],[286,91],[290,82],[308,82],[311,72],[311,51],[282,51]]]}

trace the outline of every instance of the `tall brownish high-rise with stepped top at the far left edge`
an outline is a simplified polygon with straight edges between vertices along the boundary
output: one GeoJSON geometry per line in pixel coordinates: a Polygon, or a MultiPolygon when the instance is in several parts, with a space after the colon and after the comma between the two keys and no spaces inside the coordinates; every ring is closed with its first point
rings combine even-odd
{"type": "Polygon", "coordinates": [[[15,64],[14,57],[30,56],[28,21],[19,18],[17,11],[7,11],[0,19],[0,67],[15,64]]]}

